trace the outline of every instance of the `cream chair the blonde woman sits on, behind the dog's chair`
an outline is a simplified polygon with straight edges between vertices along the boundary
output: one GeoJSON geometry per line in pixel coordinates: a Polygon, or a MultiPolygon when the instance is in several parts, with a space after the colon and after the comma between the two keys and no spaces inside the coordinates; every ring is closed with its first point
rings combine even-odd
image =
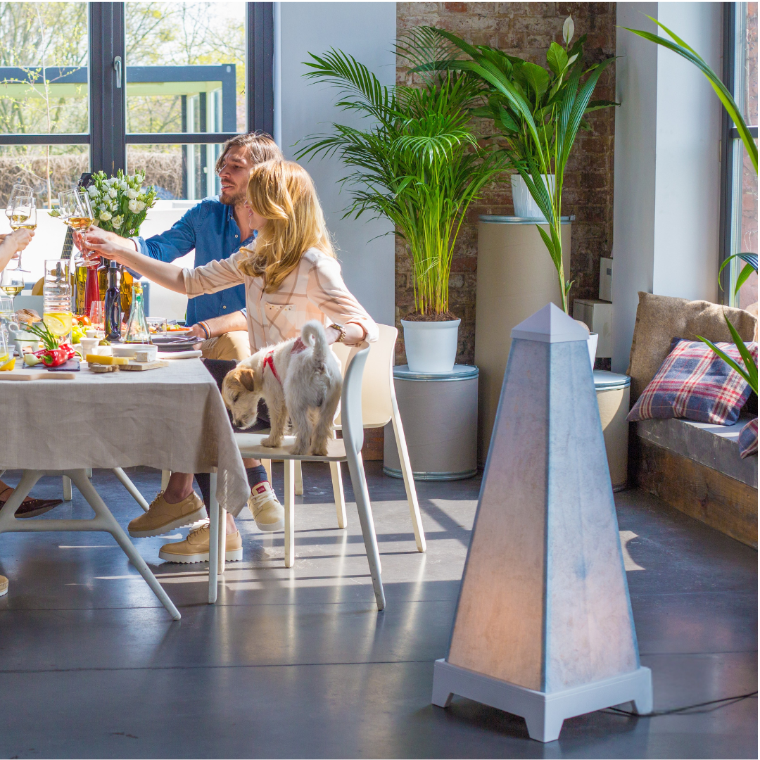
{"type": "MultiPolygon", "coordinates": [[[[390,325],[378,325],[379,336],[375,343],[369,344],[369,356],[364,369],[362,381],[362,421],[365,428],[382,428],[389,422],[393,423],[393,432],[396,438],[398,458],[401,460],[401,473],[404,476],[404,488],[407,491],[407,502],[412,518],[414,540],[418,552],[426,549],[425,530],[420,517],[420,505],[417,502],[417,491],[412,476],[412,466],[409,462],[407,451],[407,439],[404,435],[404,426],[401,423],[401,415],[398,413],[396,403],[396,390],[393,382],[393,358],[396,347],[398,331],[390,325]]],[[[344,375],[350,364],[355,350],[343,344],[333,344],[333,350],[343,366],[344,375]]],[[[335,429],[341,429],[340,414],[335,420],[335,429]]],[[[277,459],[277,457],[274,457],[277,459]]],[[[269,474],[271,482],[271,464],[263,462],[269,474]]],[[[335,511],[337,512],[337,525],[340,528],[347,526],[346,501],[343,492],[343,480],[340,477],[340,462],[330,463],[332,474],[333,494],[335,499],[335,511]]],[[[303,493],[301,463],[296,461],[296,495],[303,493]]]]}

